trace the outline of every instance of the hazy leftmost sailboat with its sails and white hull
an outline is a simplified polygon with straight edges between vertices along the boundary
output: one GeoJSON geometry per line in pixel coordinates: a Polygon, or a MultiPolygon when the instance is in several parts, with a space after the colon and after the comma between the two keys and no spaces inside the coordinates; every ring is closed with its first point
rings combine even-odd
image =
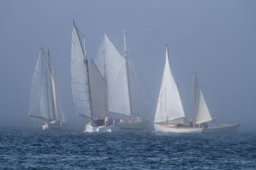
{"type": "Polygon", "coordinates": [[[28,116],[44,123],[42,129],[63,129],[65,118],[58,102],[56,75],[51,70],[49,50],[41,48],[33,74],[28,116]]]}

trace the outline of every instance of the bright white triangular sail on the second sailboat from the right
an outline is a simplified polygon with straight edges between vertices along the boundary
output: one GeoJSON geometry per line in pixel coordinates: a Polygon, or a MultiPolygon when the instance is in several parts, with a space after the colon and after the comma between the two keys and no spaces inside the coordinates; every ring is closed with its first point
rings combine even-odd
{"type": "Polygon", "coordinates": [[[184,110],[180,100],[179,91],[168,61],[168,47],[166,49],[166,61],[163,79],[159,93],[155,123],[166,122],[184,118],[184,110]]]}

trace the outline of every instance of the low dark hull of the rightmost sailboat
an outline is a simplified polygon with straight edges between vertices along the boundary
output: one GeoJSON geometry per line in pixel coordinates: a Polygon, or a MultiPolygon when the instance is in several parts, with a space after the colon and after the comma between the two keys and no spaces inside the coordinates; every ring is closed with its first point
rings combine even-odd
{"type": "Polygon", "coordinates": [[[238,132],[240,125],[216,125],[216,127],[203,128],[204,134],[216,134],[216,133],[236,133],[238,132]]]}

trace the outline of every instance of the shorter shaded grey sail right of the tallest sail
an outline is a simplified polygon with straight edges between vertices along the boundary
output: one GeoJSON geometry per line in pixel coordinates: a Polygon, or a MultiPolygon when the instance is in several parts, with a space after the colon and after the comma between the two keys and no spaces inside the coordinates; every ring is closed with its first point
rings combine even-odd
{"type": "Polygon", "coordinates": [[[93,115],[97,116],[97,118],[105,118],[105,115],[107,114],[105,102],[105,81],[92,59],[90,67],[90,87],[93,115]]]}

